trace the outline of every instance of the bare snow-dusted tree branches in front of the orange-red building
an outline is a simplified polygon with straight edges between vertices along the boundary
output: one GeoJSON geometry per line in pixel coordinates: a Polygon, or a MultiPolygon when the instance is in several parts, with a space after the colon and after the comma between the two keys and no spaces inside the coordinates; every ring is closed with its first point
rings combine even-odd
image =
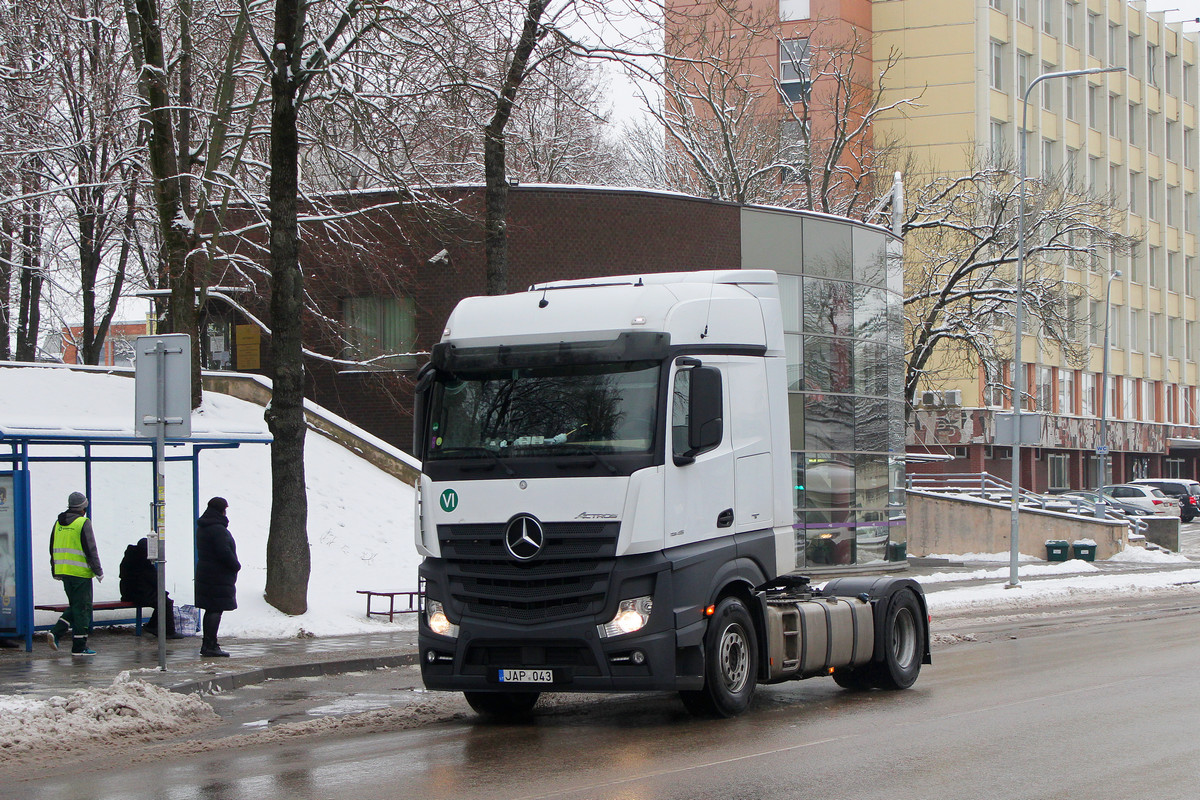
{"type": "Polygon", "coordinates": [[[806,40],[784,42],[778,13],[738,2],[704,11],[668,12],[662,100],[647,98],[650,119],[630,136],[641,180],[737,203],[868,213],[890,185],[886,169],[877,184],[894,150],[872,125],[917,102],[883,100],[898,54],[872,59],[860,32],[822,22],[806,40]],[[764,74],[780,52],[787,74],[764,74]]]}

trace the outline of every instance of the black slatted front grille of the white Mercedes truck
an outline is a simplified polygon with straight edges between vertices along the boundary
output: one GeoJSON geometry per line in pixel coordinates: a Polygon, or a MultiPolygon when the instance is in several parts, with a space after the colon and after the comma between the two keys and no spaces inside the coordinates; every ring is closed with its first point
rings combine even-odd
{"type": "Polygon", "coordinates": [[[619,523],[542,523],[536,558],[504,547],[505,523],[439,525],[450,594],[474,616],[523,622],[599,613],[617,553],[619,523]]]}

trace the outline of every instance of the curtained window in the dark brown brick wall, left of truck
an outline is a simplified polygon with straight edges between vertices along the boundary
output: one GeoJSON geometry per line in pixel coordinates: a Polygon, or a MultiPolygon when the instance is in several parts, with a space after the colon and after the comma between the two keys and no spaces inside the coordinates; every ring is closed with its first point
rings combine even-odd
{"type": "Polygon", "coordinates": [[[346,297],[342,319],[344,357],[373,368],[416,366],[408,355],[416,341],[416,306],[412,297],[346,297]]]}

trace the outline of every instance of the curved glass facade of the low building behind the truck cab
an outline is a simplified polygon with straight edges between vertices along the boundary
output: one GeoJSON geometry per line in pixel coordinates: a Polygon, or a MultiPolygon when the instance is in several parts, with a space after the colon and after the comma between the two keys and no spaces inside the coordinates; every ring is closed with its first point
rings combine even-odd
{"type": "Polygon", "coordinates": [[[888,230],[744,209],[743,266],[779,272],[797,563],[902,559],[904,273],[888,230]]]}

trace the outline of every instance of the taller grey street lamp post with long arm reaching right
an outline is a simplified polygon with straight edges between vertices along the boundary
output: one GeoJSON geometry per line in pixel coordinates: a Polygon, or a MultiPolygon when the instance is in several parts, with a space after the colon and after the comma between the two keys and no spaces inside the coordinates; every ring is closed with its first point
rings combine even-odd
{"type": "Polygon", "coordinates": [[[1051,78],[1075,78],[1078,76],[1093,76],[1102,72],[1124,72],[1124,67],[1093,67],[1091,70],[1067,70],[1063,72],[1046,72],[1030,82],[1025,88],[1021,98],[1021,130],[1018,131],[1020,139],[1020,174],[1018,184],[1018,209],[1016,209],[1016,307],[1013,312],[1013,517],[1009,523],[1008,534],[1008,584],[1014,589],[1021,585],[1018,577],[1018,560],[1020,555],[1019,534],[1020,500],[1021,500],[1021,405],[1025,402],[1025,373],[1021,368],[1021,339],[1022,317],[1025,314],[1025,163],[1026,163],[1026,138],[1030,120],[1030,92],[1043,80],[1051,78]]]}

